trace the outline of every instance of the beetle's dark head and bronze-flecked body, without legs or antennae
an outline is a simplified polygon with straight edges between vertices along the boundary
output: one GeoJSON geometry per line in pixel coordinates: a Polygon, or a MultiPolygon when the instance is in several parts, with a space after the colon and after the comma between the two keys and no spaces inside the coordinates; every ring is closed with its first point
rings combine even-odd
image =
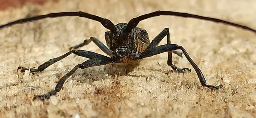
{"type": "Polygon", "coordinates": [[[105,32],[106,43],[115,57],[124,58],[131,53],[143,52],[150,43],[145,29],[135,27],[127,33],[127,23],[119,23],[116,32],[105,32]]]}

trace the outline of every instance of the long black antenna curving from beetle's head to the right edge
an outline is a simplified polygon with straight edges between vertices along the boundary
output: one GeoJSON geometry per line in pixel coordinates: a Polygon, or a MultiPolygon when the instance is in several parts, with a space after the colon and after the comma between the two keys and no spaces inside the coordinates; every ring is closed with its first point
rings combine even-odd
{"type": "Polygon", "coordinates": [[[131,32],[131,30],[134,29],[141,20],[145,20],[145,19],[148,19],[150,17],[156,17],[156,16],[160,16],[160,15],[171,15],[171,16],[178,16],[178,17],[192,17],[192,18],[197,18],[197,19],[202,19],[202,20],[209,20],[209,21],[213,21],[213,22],[216,22],[216,23],[224,23],[224,24],[227,24],[227,25],[230,25],[230,26],[236,26],[236,27],[246,29],[246,30],[249,30],[249,31],[252,31],[252,32],[256,33],[255,29],[251,29],[247,26],[242,26],[242,25],[239,25],[239,24],[236,24],[236,23],[231,23],[231,22],[228,22],[228,21],[225,21],[225,20],[220,20],[220,19],[211,18],[211,17],[204,17],[204,16],[195,15],[195,14],[172,12],[172,11],[156,11],[156,12],[151,12],[151,13],[148,13],[148,14],[141,15],[139,17],[135,17],[135,18],[133,18],[129,21],[129,23],[127,25],[127,31],[131,32]]]}

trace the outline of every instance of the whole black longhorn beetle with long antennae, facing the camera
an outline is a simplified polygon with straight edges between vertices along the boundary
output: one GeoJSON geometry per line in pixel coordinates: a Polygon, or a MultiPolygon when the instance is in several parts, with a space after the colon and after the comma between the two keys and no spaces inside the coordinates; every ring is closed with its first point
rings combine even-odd
{"type": "MultiPolygon", "coordinates": [[[[88,40],[84,40],[83,43],[79,45],[73,46],[71,49],[78,49],[79,47],[85,46],[91,41],[95,43],[103,52],[105,52],[108,56],[101,55],[95,52],[85,51],[85,50],[71,50],[64,55],[61,55],[57,58],[53,58],[48,60],[47,62],[43,63],[42,65],[38,66],[37,69],[31,68],[30,72],[41,72],[46,69],[48,66],[52,65],[53,63],[67,57],[70,54],[76,54],[81,57],[89,58],[89,60],[84,61],[81,64],[76,65],[70,72],[64,75],[55,86],[55,90],[47,92],[43,95],[35,95],[34,100],[39,98],[44,100],[45,98],[50,98],[52,95],[56,95],[57,92],[60,92],[64,82],[69,78],[77,69],[85,69],[92,66],[101,66],[110,63],[127,63],[127,62],[138,62],[143,58],[151,57],[153,55],[158,55],[163,52],[168,53],[167,65],[171,66],[173,70],[177,70],[178,72],[186,72],[191,71],[189,68],[178,68],[174,64],[172,64],[172,53],[176,53],[177,55],[181,56],[182,53],[185,55],[189,63],[195,69],[195,72],[198,75],[200,83],[202,86],[206,86],[210,89],[220,89],[222,88],[222,84],[219,86],[213,86],[207,84],[203,73],[199,69],[199,67],[195,64],[195,62],[189,57],[189,54],[183,48],[183,46],[179,46],[177,44],[171,44],[170,41],[170,34],[169,29],[165,28],[159,35],[157,35],[151,42],[148,37],[148,33],[145,29],[137,27],[138,23],[142,20],[148,19],[150,17],[156,17],[160,15],[171,15],[171,16],[178,16],[178,17],[191,17],[197,18],[201,20],[209,20],[216,23],[224,23],[230,26],[240,27],[242,29],[246,29],[256,33],[255,29],[251,29],[247,26],[242,26],[236,23],[231,23],[228,21],[211,18],[211,17],[204,17],[195,14],[188,14],[182,12],[172,12],[172,11],[156,11],[151,12],[148,14],[141,15],[139,17],[135,17],[131,19],[128,23],[118,23],[114,25],[111,20],[106,18],[102,18],[93,14],[88,14],[84,12],[58,12],[58,13],[50,13],[45,15],[39,15],[35,17],[24,18],[20,20],[16,20],[5,25],[0,26],[1,28],[12,26],[15,24],[26,23],[34,20],[40,20],[48,17],[64,17],[64,16],[79,16],[85,17],[91,20],[96,20],[102,24],[106,29],[109,31],[105,32],[105,40],[107,46],[105,46],[102,42],[100,42],[95,37],[90,37],[88,40]],[[167,36],[167,43],[165,45],[158,46],[161,40],[167,36]],[[180,49],[182,53],[175,52],[175,50],[180,49]]],[[[182,56],[181,56],[182,57],[182,56]]],[[[21,72],[25,72],[25,70],[29,70],[28,68],[19,66],[18,69],[21,69],[21,72]]]]}

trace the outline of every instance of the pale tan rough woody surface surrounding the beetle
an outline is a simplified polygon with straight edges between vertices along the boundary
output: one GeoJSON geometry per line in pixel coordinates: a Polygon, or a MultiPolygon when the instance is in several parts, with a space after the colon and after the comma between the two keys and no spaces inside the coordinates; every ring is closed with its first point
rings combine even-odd
{"type": "MultiPolygon", "coordinates": [[[[218,17],[256,28],[255,6],[253,0],[61,0],[1,11],[0,24],[64,11],[88,12],[116,24],[156,10],[169,10],[218,17]]],[[[79,69],[57,96],[44,102],[32,101],[35,94],[54,89],[56,81],[87,59],[70,55],[35,74],[17,72],[18,66],[37,67],[91,36],[105,43],[107,30],[98,22],[79,17],[46,19],[0,31],[0,117],[256,117],[255,34],[209,21],[171,16],[144,20],[139,26],[148,31],[151,40],[168,27],[172,43],[188,51],[207,83],[223,83],[224,87],[217,91],[202,89],[194,69],[186,74],[171,72],[166,64],[167,54],[163,53],[145,58],[122,76],[108,75],[104,66],[79,69]],[[169,73],[163,73],[166,71],[169,73]],[[26,89],[29,86],[40,88],[26,89]]],[[[160,44],[164,43],[165,39],[160,44]]],[[[81,49],[103,54],[93,43],[81,49]]],[[[186,58],[175,55],[174,60],[179,67],[192,68],[186,58]]]]}

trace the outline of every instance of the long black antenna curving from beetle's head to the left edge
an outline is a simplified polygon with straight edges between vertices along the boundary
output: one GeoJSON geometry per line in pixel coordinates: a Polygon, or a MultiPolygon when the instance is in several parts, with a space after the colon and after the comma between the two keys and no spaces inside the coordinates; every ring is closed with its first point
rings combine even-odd
{"type": "Polygon", "coordinates": [[[88,18],[91,20],[96,20],[96,21],[99,21],[100,23],[102,23],[102,26],[104,26],[106,29],[111,30],[111,32],[115,31],[115,25],[114,25],[114,23],[111,22],[111,20],[96,16],[93,14],[84,13],[84,12],[59,12],[59,13],[50,13],[50,14],[39,15],[39,16],[35,16],[35,17],[29,17],[29,18],[16,20],[16,21],[7,23],[5,25],[2,25],[2,26],[0,26],[0,29],[4,28],[4,27],[15,25],[15,24],[32,22],[34,20],[41,20],[41,19],[48,18],[48,17],[65,17],[65,16],[79,16],[79,17],[85,17],[85,18],[88,18]]]}

